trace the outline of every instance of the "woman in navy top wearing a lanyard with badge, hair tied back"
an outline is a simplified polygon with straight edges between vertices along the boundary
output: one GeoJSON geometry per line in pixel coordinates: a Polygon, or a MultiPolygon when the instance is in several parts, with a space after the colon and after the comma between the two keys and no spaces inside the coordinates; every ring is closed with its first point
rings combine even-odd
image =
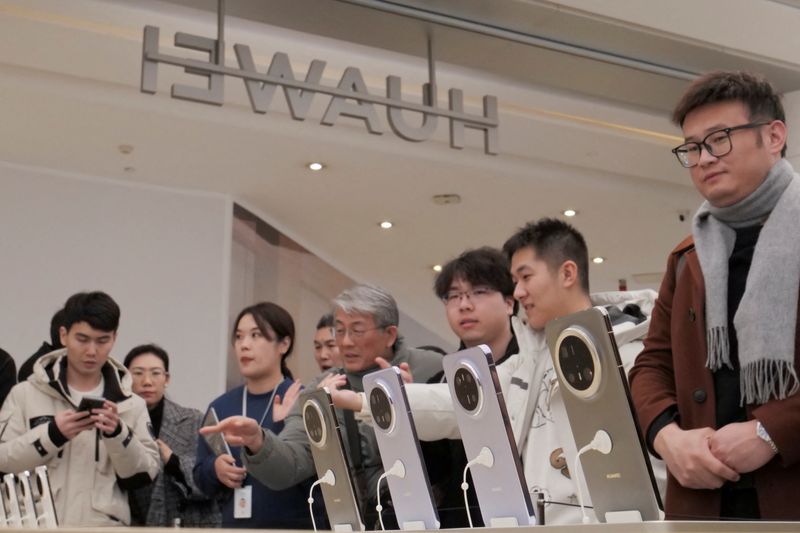
{"type": "MultiPolygon", "coordinates": [[[[247,307],[234,321],[232,342],[244,385],[226,392],[209,407],[220,420],[243,415],[279,433],[301,388],[286,368],[294,345],[291,315],[271,302],[247,307]]],[[[271,490],[247,475],[241,467],[240,450],[232,447],[230,455],[216,456],[204,439],[198,440],[195,482],[205,494],[223,496],[222,527],[311,529],[306,499],[313,480],[271,490]]]]}

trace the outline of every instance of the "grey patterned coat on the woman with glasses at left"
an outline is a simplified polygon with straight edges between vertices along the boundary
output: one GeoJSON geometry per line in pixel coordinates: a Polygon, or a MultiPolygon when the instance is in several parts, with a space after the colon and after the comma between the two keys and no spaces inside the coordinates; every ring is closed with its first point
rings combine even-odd
{"type": "Polygon", "coordinates": [[[163,469],[152,485],[131,494],[133,525],[171,527],[176,518],[182,527],[219,527],[222,516],[218,503],[207,498],[192,478],[198,431],[203,414],[164,398],[159,438],[180,462],[183,479],[163,469]]]}

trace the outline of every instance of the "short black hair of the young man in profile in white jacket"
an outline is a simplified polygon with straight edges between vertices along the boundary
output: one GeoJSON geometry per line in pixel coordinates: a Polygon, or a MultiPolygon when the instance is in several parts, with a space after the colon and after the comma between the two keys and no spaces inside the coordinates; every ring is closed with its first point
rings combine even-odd
{"type": "Polygon", "coordinates": [[[557,218],[529,222],[505,242],[503,253],[511,261],[523,248],[532,249],[551,271],[558,270],[565,261],[574,261],[581,289],[589,294],[589,250],[583,235],[573,226],[557,218]]]}

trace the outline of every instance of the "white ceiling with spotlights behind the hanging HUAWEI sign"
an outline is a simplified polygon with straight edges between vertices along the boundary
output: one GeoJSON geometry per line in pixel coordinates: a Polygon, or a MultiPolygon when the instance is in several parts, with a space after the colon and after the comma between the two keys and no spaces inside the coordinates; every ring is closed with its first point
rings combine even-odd
{"type": "MultiPolygon", "coordinates": [[[[607,258],[592,266],[595,290],[614,289],[620,278],[628,280],[629,288],[655,286],[667,252],[689,230],[678,215],[693,211],[699,199],[669,153],[679,132],[664,111],[671,103],[661,103],[677,94],[684,80],[565,59],[449,29],[450,40],[443,41],[456,50],[439,49],[439,57],[452,58],[452,63],[438,64],[440,99],[446,101],[446,89],[461,88],[467,107],[475,111],[484,94],[498,96],[500,154],[487,156],[475,132],[467,133],[466,149],[450,149],[443,121],[436,139],[420,144],[402,141],[388,128],[381,136],[370,135],[354,119],[322,126],[319,120],[329,101],[323,95],[315,97],[305,122],[289,117],[280,93],[269,113],[255,114],[240,80],[226,80],[222,107],[175,100],[169,96],[173,82],[198,84],[198,78],[167,65],[159,67],[158,93],[142,94],[144,25],[159,26],[162,49],[175,55],[192,55],[170,46],[176,31],[215,37],[216,17],[208,9],[216,3],[197,3],[203,10],[181,5],[190,3],[0,0],[0,160],[229,194],[351,277],[386,286],[408,314],[448,338],[441,306],[430,290],[431,265],[466,248],[499,246],[526,221],[577,209],[573,220],[590,253],[607,258]],[[471,46],[484,53],[465,53],[471,46]],[[544,67],[530,65],[542,54],[548,74],[536,83],[544,67]],[[574,81],[568,90],[565,80],[574,81]],[[121,154],[121,144],[133,146],[133,152],[121,154]],[[324,161],[327,169],[309,172],[305,164],[312,160],[324,161]],[[431,197],[443,193],[459,194],[462,203],[435,205],[431,197]],[[384,219],[395,223],[391,231],[378,228],[384,219]]],[[[247,4],[228,0],[228,11],[247,4]]],[[[381,94],[385,76],[396,74],[403,77],[404,97],[419,98],[427,76],[419,50],[376,49],[375,42],[360,42],[366,38],[348,42],[300,31],[311,21],[317,34],[336,33],[332,27],[341,32],[336,22],[342,9],[362,10],[347,20],[356,27],[366,24],[364,31],[350,35],[369,34],[370,39],[411,24],[407,20],[401,24],[397,15],[380,12],[384,26],[376,27],[370,22],[375,17],[371,8],[334,0],[253,4],[280,14],[272,24],[282,27],[267,26],[244,12],[248,19],[229,16],[229,64],[236,61],[232,45],[243,43],[250,45],[261,71],[274,52],[283,51],[298,75],[312,59],[322,59],[328,63],[325,84],[335,85],[345,67],[355,66],[371,92],[381,94]]],[[[513,4],[518,9],[525,4],[553,7],[552,2],[513,4]]],[[[568,11],[557,10],[559,24],[569,22],[568,11]]],[[[633,39],[631,25],[585,13],[574,17],[582,21],[576,33],[582,46],[599,46],[585,41],[593,33],[617,45],[624,41],[619,39],[623,30],[633,39]]],[[[648,32],[636,30],[637,39],[646,41],[648,32]]],[[[682,47],[703,49],[696,39],[669,37],[662,30],[650,33],[657,33],[660,43],[671,40],[682,57],[682,47]]],[[[709,60],[720,54],[718,46],[712,48],[709,60]]],[[[659,49],[658,61],[665,64],[670,55],[667,48],[659,49]]],[[[642,50],[636,47],[628,55],[642,50]]],[[[737,54],[722,55],[730,59],[737,54]]],[[[689,66],[698,71],[713,66],[699,64],[701,57],[693,56],[689,66]]],[[[757,59],[750,53],[747,60],[757,59]]],[[[793,85],[800,79],[796,65],[762,63],[784,88],[800,87],[793,85]]],[[[386,125],[382,109],[379,114],[386,125]]]]}

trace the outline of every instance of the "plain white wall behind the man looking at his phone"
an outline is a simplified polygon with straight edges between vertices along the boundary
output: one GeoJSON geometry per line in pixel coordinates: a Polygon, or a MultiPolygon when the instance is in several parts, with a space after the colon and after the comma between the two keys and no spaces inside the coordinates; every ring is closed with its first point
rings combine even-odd
{"type": "Polygon", "coordinates": [[[112,354],[160,344],[169,396],[204,409],[224,391],[231,216],[223,195],[0,163],[0,347],[19,366],[71,294],[103,290],[112,354]]]}

